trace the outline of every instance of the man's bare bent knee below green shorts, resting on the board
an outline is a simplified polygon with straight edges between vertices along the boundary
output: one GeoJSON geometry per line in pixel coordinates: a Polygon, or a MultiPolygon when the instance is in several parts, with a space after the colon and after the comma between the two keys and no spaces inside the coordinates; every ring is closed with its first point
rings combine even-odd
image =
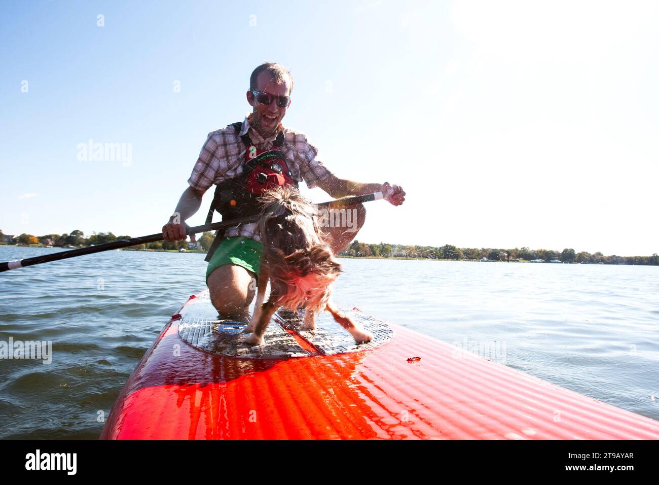
{"type": "Polygon", "coordinates": [[[221,318],[249,317],[256,293],[256,275],[239,265],[222,265],[208,275],[210,300],[221,318]]]}

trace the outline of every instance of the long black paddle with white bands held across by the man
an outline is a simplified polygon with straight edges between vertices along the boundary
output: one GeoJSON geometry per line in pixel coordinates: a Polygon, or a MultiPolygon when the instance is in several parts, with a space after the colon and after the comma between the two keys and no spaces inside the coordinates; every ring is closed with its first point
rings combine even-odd
{"type": "MultiPolygon", "coordinates": [[[[362,202],[376,201],[382,199],[382,192],[370,193],[366,195],[354,195],[349,197],[342,197],[341,199],[334,199],[329,202],[322,202],[318,207],[345,207],[347,205],[358,204],[362,202]]],[[[247,224],[248,222],[256,222],[258,216],[242,217],[239,219],[232,219],[227,222],[213,222],[212,224],[204,224],[203,226],[195,226],[190,228],[187,232],[190,234],[198,234],[200,232],[213,231],[227,227],[237,226],[239,224],[247,224]]],[[[142,236],[141,238],[130,238],[111,243],[99,244],[98,246],[80,247],[79,249],[71,249],[71,251],[60,251],[59,253],[47,254],[36,257],[28,257],[26,259],[14,259],[14,261],[7,261],[0,263],[0,273],[9,271],[10,269],[24,268],[26,266],[38,265],[40,263],[49,263],[51,261],[59,261],[60,259],[67,259],[70,257],[82,256],[85,254],[101,253],[102,251],[110,251],[111,249],[119,249],[120,247],[136,246],[138,244],[162,241],[163,234],[150,234],[149,236],[142,236]]]]}

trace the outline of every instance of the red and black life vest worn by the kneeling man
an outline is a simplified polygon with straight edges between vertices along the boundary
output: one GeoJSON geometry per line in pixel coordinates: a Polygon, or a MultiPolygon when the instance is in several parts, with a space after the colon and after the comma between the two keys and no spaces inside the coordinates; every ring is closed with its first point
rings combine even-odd
{"type": "MultiPolygon", "coordinates": [[[[233,129],[238,133],[243,129],[243,123],[233,123],[233,129]]],[[[241,217],[255,216],[261,211],[258,197],[266,190],[274,189],[280,185],[293,185],[296,189],[298,183],[291,174],[286,162],[286,155],[280,150],[284,143],[283,131],[279,131],[277,138],[269,150],[259,150],[248,133],[241,140],[246,148],[243,173],[234,178],[221,181],[215,187],[215,195],[206,216],[206,224],[213,222],[215,210],[222,216],[222,221],[241,217]]],[[[210,261],[215,249],[224,237],[224,230],[215,235],[206,261],[210,261]]]]}

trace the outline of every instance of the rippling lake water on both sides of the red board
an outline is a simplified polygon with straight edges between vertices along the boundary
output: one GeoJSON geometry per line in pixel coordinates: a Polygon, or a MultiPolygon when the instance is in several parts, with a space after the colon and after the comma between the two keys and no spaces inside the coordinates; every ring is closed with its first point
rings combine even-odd
{"type": "MultiPolygon", "coordinates": [[[[0,247],[0,261],[58,249],[0,247]]],[[[341,259],[337,303],[659,419],[659,267],[341,259]]],[[[0,438],[91,438],[203,254],[107,251],[0,274],[0,438]]]]}

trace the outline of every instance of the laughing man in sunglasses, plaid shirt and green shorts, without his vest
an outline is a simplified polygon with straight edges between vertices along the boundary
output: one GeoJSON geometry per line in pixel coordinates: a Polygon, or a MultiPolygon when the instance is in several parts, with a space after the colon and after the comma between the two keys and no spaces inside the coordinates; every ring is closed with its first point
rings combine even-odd
{"type": "MultiPolygon", "coordinates": [[[[308,143],[302,133],[281,125],[291,104],[292,90],[293,77],[282,65],[264,63],[254,69],[247,91],[247,102],[252,106],[252,113],[245,117],[242,125],[229,125],[209,133],[188,179],[190,186],[181,195],[175,215],[163,226],[165,241],[186,238],[188,225],[185,220],[199,209],[202,195],[211,185],[241,175],[249,156],[248,150],[255,148],[268,150],[273,145],[278,146],[286,154],[287,168],[295,181],[304,180],[310,188],[320,187],[335,199],[382,192],[393,205],[401,205],[405,201],[405,192],[398,185],[339,179],[322,162],[316,160],[316,147],[308,143]],[[246,147],[245,139],[254,146],[246,147]],[[283,141],[283,145],[277,145],[277,140],[279,144],[283,141]]],[[[327,242],[334,253],[347,247],[364,224],[364,206],[358,204],[346,208],[351,209],[356,209],[357,230],[324,228],[325,232],[329,230],[327,242]]],[[[190,239],[196,241],[194,236],[190,239]]],[[[221,317],[229,319],[248,316],[248,307],[254,299],[254,281],[258,275],[261,249],[255,224],[243,224],[225,232],[225,238],[213,253],[206,271],[211,301],[221,317]]]]}

